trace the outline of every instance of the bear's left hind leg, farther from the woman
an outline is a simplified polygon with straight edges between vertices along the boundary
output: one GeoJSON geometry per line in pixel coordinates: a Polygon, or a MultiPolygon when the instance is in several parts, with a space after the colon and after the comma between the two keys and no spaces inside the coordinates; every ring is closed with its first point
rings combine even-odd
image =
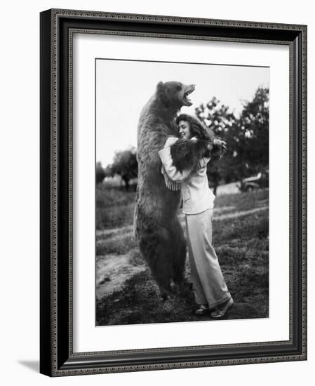
{"type": "Polygon", "coordinates": [[[140,234],[140,252],[147,261],[152,272],[152,277],[159,286],[161,300],[166,300],[171,293],[170,281],[172,279],[172,240],[166,228],[154,226],[147,232],[140,234]]]}

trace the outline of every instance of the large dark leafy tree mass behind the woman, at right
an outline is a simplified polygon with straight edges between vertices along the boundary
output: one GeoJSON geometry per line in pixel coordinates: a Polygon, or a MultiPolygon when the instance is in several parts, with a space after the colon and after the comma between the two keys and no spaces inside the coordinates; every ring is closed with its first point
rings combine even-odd
{"type": "Polygon", "coordinates": [[[219,180],[232,182],[268,166],[269,89],[257,88],[253,100],[243,103],[239,117],[213,97],[196,108],[196,116],[212,128],[217,138],[227,142],[227,154],[208,164],[208,177],[214,188],[219,180]]]}

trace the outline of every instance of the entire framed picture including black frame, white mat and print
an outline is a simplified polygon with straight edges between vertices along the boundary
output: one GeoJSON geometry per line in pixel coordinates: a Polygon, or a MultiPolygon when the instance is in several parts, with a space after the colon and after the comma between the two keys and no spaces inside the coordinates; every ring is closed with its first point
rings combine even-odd
{"type": "Polygon", "coordinates": [[[41,13],[49,376],[307,359],[307,27],[41,13]]]}

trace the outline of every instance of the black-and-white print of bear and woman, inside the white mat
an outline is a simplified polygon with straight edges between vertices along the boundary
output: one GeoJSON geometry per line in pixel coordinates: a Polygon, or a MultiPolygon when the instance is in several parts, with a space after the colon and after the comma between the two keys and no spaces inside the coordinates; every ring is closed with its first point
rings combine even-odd
{"type": "Polygon", "coordinates": [[[269,317],[269,67],[95,59],[95,325],[269,317]]]}

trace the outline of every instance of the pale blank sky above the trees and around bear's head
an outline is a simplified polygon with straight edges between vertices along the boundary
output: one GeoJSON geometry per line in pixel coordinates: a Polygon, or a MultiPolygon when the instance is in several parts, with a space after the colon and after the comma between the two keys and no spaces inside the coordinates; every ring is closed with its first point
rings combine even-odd
{"type": "Polygon", "coordinates": [[[112,163],[115,151],[136,147],[141,109],[159,81],[196,85],[193,105],[181,112],[194,114],[215,96],[237,115],[259,86],[269,87],[269,67],[96,60],[96,161],[103,167],[112,163]]]}

